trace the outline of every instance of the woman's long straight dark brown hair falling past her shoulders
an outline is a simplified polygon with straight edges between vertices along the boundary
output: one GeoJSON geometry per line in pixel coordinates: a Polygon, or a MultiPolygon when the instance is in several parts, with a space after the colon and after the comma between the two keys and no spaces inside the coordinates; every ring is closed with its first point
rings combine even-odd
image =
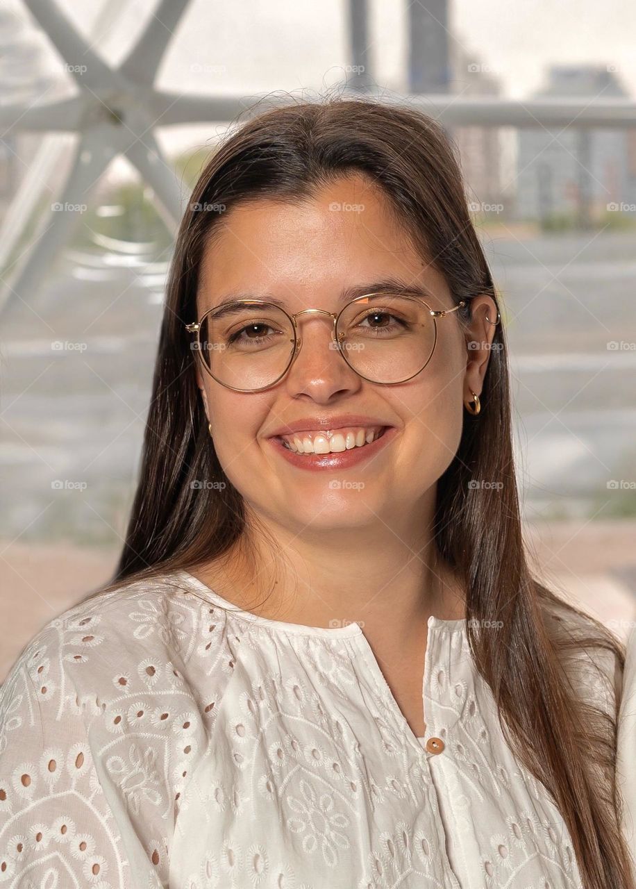
{"type": "MultiPolygon", "coordinates": [[[[383,190],[455,300],[488,293],[497,302],[456,148],[433,119],[408,106],[338,97],[292,101],[242,123],[204,168],[181,221],[139,484],[119,564],[102,590],[221,559],[246,536],[242,496],[215,453],[184,329],[197,320],[203,249],[240,202],[261,196],[298,201],[350,172],[383,190]],[[202,486],[202,479],[223,484],[202,486]]],[[[463,311],[466,323],[469,305],[463,311]]],[[[576,660],[593,666],[594,652],[622,670],[624,646],[532,576],[513,463],[503,324],[494,344],[481,412],[465,414],[457,454],[438,481],[435,542],[464,581],[476,669],[493,693],[513,752],[545,785],[566,822],[584,889],[630,889],[615,780],[616,718],[583,701],[576,690],[580,675],[568,672],[576,660]],[[501,485],[469,485],[479,479],[501,485]],[[571,618],[589,633],[566,630],[571,618]],[[492,626],[484,621],[500,621],[501,629],[477,632],[492,626]]]]}

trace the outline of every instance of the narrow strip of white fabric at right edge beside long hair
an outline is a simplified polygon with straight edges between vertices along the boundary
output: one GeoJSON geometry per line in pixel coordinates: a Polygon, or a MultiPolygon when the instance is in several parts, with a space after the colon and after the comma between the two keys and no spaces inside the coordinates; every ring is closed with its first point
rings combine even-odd
{"type": "Polygon", "coordinates": [[[627,640],[627,656],[618,710],[616,781],[623,797],[623,831],[636,875],[636,627],[627,640]]]}

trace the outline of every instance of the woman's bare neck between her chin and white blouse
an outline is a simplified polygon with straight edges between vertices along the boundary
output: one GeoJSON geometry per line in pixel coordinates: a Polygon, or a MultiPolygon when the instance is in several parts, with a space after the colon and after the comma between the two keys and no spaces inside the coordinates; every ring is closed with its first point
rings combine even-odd
{"type": "Polygon", "coordinates": [[[432,614],[465,616],[462,585],[428,533],[407,539],[382,522],[371,531],[302,535],[268,523],[266,532],[198,572],[261,617],[312,627],[358,621],[368,639],[409,648],[421,645],[432,614]]]}

